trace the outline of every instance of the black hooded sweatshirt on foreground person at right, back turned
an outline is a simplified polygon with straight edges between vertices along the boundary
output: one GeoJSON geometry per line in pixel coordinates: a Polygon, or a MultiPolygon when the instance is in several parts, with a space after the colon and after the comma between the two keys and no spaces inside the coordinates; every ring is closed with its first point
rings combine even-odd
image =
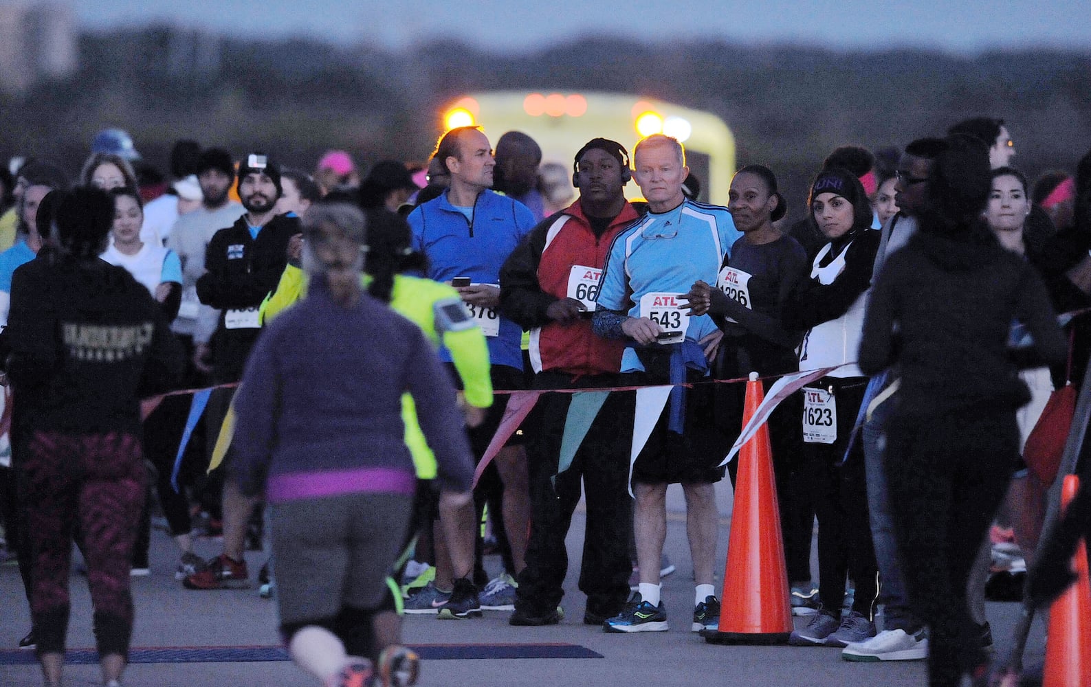
{"type": "Polygon", "coordinates": [[[982,227],[939,232],[922,221],[872,289],[859,364],[865,374],[895,366],[899,413],[939,415],[1022,406],[1029,394],[1018,370],[1065,352],[1030,264],[982,227]],[[1036,360],[1009,349],[1016,321],[1030,332],[1036,360]]]}

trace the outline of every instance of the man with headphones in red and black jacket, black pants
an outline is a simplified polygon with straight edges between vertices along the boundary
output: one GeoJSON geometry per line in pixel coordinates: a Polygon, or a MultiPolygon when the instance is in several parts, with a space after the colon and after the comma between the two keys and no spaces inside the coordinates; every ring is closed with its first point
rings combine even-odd
{"type": "MultiPolygon", "coordinates": [[[[579,197],[546,218],[519,244],[500,273],[504,314],[530,330],[535,388],[595,389],[618,386],[624,343],[596,336],[591,318],[602,266],[618,233],[639,218],[625,200],[628,153],[594,138],[576,154],[572,185],[579,197]]],[[[590,413],[584,396],[574,413],[590,413]]],[[[628,595],[632,509],[627,494],[633,395],[611,394],[574,454],[562,456],[573,394],[544,394],[536,412],[542,431],[527,446],[530,470],[530,540],[519,575],[512,625],[554,625],[568,568],[564,539],[587,494],[587,532],[579,589],[587,594],[584,623],[601,625],[628,595]],[[561,465],[568,462],[571,465],[561,465]]]]}

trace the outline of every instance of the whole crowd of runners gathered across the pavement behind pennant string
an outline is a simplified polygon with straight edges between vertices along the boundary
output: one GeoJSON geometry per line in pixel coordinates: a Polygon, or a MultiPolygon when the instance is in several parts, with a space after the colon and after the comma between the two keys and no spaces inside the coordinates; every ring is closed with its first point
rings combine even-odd
{"type": "Polygon", "coordinates": [[[663,631],[670,484],[694,579],[670,617],[715,629],[714,485],[734,483],[744,402],[728,381],[825,370],[768,420],[806,616],[789,643],[984,684],[986,581],[1034,563],[1028,493],[1056,474],[1023,447],[1091,351],[1088,318],[1056,317],[1091,305],[1091,157],[1031,184],[1011,135],[974,118],[842,146],[806,198],[750,164],[727,207],[698,200],[662,134],[573,141],[560,192],[530,136],[475,126],[367,173],[343,150],[308,172],[179,141],[164,179],[119,130],[77,174],[15,160],[0,505],[33,624],[20,647],[61,684],[74,543],[120,685],[131,578],[168,572],[149,569],[153,522],[179,593],[256,582],[322,685],[415,684],[404,613],[579,622],[570,553],[584,624],[663,631]],[[664,385],[649,415],[635,389],[664,385]],[[540,394],[512,432],[520,390],[540,394]],[[202,559],[196,537],[221,553],[202,559]]]}

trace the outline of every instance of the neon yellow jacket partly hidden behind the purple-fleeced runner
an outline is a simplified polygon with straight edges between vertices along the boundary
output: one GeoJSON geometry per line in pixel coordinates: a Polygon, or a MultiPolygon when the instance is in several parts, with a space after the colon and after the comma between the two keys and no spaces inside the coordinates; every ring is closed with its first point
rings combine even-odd
{"type": "MultiPolygon", "coordinates": [[[[367,278],[362,279],[367,281],[367,278]]],[[[280,282],[261,306],[263,322],[271,322],[304,296],[307,275],[302,269],[288,265],[280,275],[280,282]]],[[[436,311],[451,304],[461,305],[458,292],[445,284],[406,275],[394,276],[391,308],[424,333],[435,347],[441,343],[451,351],[455,370],[463,381],[466,402],[477,408],[492,405],[492,382],[489,377],[489,348],[481,328],[472,326],[458,330],[436,329],[436,311]]],[[[417,407],[412,397],[401,397],[401,419],[406,425],[406,446],[422,480],[435,478],[435,456],[424,441],[417,424],[417,407]]]]}

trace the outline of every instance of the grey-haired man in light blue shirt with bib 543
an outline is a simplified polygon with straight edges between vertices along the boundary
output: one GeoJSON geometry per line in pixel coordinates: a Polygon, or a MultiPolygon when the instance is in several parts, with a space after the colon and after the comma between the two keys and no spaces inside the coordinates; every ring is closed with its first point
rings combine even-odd
{"type": "MultiPolygon", "coordinates": [[[[622,372],[637,384],[682,384],[708,375],[703,346],[718,340],[708,315],[691,316],[682,294],[698,279],[716,284],[723,256],[742,234],[726,207],[686,200],[690,170],[676,140],[661,134],[636,145],[633,178],[648,201],[648,214],[614,239],[595,314],[600,336],[631,341],[622,372]]],[[[715,346],[712,347],[715,348],[715,346]]],[[[709,385],[675,386],[668,408],[632,469],[636,496],[639,590],[610,618],[610,632],[662,631],[667,613],[659,599],[659,557],[667,537],[667,485],[681,483],[696,581],[693,629],[719,620],[712,584],[717,517],[712,485],[728,446],[716,430],[709,385]]]]}

